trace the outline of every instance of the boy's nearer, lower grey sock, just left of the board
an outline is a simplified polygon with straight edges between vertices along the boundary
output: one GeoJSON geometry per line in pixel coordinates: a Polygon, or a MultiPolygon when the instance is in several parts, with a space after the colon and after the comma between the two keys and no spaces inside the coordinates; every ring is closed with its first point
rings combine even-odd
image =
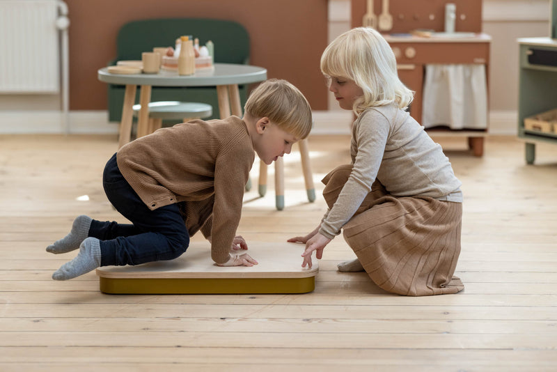
{"type": "Polygon", "coordinates": [[[79,254],[72,261],[64,263],[52,274],[54,280],[68,280],[86,274],[100,266],[100,240],[86,238],[79,246],[79,254]]]}

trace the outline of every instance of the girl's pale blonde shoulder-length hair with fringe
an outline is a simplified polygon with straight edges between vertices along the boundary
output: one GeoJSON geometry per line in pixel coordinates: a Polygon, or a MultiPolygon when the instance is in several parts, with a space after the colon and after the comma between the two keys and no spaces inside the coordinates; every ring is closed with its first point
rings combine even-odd
{"type": "Polygon", "coordinates": [[[354,102],[356,114],[392,103],[406,109],[414,99],[414,92],[398,78],[389,43],[370,27],[352,29],[333,40],[321,56],[321,72],[353,80],[362,89],[363,96],[354,102]]]}

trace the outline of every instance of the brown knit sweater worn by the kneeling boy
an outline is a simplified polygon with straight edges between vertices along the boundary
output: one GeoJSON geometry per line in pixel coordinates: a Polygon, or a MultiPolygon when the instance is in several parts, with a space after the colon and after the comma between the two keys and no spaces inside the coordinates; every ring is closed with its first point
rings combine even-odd
{"type": "MultiPolygon", "coordinates": [[[[143,203],[155,210],[213,199],[211,257],[226,263],[240,216],[244,187],[255,160],[246,123],[237,116],[162,128],[126,144],[116,155],[120,172],[143,203]]],[[[191,215],[191,210],[188,211],[191,215]]],[[[189,226],[188,226],[189,228],[189,226]]]]}

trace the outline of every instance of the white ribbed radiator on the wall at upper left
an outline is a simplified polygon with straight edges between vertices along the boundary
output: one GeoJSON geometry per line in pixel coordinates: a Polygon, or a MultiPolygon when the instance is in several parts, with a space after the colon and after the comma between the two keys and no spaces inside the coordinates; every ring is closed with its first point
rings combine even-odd
{"type": "Polygon", "coordinates": [[[0,0],[0,94],[59,93],[58,0],[0,0]]]}

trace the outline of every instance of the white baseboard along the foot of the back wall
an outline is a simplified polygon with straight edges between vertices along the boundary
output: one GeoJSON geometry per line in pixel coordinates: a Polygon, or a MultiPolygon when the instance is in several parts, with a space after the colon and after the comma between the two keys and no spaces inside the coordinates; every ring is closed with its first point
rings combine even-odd
{"type": "MultiPolygon", "coordinates": [[[[60,111],[0,111],[0,134],[63,134],[60,111]]],[[[350,134],[351,111],[314,111],[313,134],[350,134]]],[[[70,134],[117,134],[118,123],[109,123],[107,111],[70,111],[70,134]]],[[[491,111],[489,134],[517,132],[516,111],[491,111]]]]}

